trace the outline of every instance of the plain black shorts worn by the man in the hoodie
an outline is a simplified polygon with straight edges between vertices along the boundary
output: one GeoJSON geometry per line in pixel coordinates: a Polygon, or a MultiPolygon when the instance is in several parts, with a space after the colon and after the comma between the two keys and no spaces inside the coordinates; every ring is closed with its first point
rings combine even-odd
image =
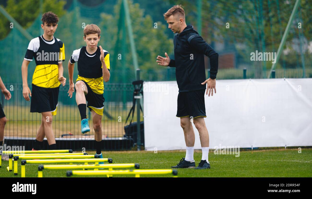
{"type": "Polygon", "coordinates": [[[177,117],[206,117],[205,90],[180,92],[178,95],[177,117]]]}

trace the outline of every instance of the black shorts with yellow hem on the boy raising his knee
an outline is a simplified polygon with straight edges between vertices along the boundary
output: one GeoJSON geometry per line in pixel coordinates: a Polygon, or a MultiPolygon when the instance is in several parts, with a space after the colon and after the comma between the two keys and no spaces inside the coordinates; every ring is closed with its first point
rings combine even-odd
{"type": "MultiPolygon", "coordinates": [[[[78,80],[78,81],[83,81],[83,80],[78,80]]],[[[85,95],[85,99],[88,102],[87,107],[90,109],[90,111],[94,110],[96,114],[103,115],[104,101],[105,101],[103,94],[97,94],[93,92],[90,86],[86,82],[85,82],[85,85],[87,86],[87,89],[88,89],[88,94],[85,95]]],[[[75,87],[75,92],[77,92],[76,87],[75,87]]]]}

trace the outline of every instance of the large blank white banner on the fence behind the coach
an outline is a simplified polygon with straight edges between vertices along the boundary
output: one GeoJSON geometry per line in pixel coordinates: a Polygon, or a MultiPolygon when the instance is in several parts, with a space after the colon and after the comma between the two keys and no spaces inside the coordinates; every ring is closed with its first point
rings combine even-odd
{"type": "MultiPolygon", "coordinates": [[[[216,88],[205,95],[210,149],[312,146],[312,78],[217,80],[216,88]]],[[[145,150],[185,149],[177,82],[144,82],[143,92],[145,150]]]]}

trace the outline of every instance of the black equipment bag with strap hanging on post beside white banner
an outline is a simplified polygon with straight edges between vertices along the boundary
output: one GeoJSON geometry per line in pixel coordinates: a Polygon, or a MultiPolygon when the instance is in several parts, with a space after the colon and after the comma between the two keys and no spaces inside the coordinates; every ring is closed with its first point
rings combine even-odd
{"type": "MultiPolygon", "coordinates": [[[[132,138],[134,143],[138,143],[137,122],[133,122],[132,123],[132,120],[133,120],[135,104],[136,104],[136,98],[134,96],[137,96],[138,94],[142,94],[142,97],[143,97],[143,90],[142,90],[143,80],[134,81],[134,82],[132,82],[132,84],[134,85],[134,92],[133,92],[133,98],[132,98],[133,105],[132,105],[132,107],[130,109],[130,112],[128,114],[128,117],[126,119],[125,124],[127,123],[131,112],[132,112],[132,118],[130,120],[130,124],[127,125],[127,126],[124,126],[124,132],[125,132],[124,137],[132,138]],[[140,85],[140,86],[139,86],[139,88],[136,88],[135,85],[140,85]]],[[[143,113],[141,104],[140,104],[140,109],[141,109],[141,111],[143,113]]],[[[141,139],[140,139],[141,140],[141,144],[144,146],[144,121],[140,122],[140,135],[141,135],[141,139]]]]}

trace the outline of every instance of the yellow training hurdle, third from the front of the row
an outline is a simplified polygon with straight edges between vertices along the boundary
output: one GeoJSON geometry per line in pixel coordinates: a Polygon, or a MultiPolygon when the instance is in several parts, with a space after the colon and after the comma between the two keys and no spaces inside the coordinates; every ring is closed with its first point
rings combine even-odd
{"type": "MultiPolygon", "coordinates": [[[[22,175],[21,177],[25,177],[26,172],[26,164],[48,164],[48,163],[95,163],[95,162],[108,162],[113,163],[112,158],[81,158],[81,159],[61,159],[61,160],[22,160],[22,175]]],[[[72,166],[72,165],[70,165],[72,166]]]]}

